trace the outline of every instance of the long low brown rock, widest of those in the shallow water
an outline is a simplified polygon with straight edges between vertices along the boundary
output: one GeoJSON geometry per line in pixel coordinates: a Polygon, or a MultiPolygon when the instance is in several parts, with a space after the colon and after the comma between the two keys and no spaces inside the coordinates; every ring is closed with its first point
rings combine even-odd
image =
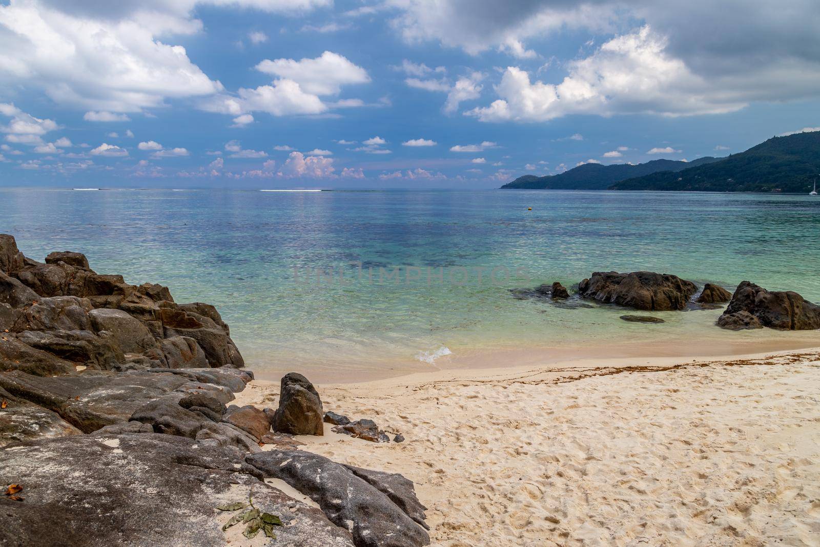
{"type": "Polygon", "coordinates": [[[584,298],[649,311],[685,309],[697,289],[691,281],[654,271],[595,271],[578,284],[584,298]]]}

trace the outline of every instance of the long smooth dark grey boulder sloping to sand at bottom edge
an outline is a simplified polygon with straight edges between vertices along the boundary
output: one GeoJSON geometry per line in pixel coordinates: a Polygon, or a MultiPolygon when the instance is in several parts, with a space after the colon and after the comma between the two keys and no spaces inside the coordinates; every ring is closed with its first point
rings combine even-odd
{"type": "Polygon", "coordinates": [[[271,450],[245,461],[310,497],[330,522],[353,533],[357,547],[430,544],[430,536],[408,513],[344,465],[302,450],[271,450]]]}

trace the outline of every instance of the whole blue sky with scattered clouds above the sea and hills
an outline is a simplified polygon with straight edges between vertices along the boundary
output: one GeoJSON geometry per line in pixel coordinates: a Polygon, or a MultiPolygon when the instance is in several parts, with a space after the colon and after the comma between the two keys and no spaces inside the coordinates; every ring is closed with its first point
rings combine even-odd
{"type": "Polygon", "coordinates": [[[497,188],[820,126],[817,0],[0,0],[0,186],[497,188]]]}

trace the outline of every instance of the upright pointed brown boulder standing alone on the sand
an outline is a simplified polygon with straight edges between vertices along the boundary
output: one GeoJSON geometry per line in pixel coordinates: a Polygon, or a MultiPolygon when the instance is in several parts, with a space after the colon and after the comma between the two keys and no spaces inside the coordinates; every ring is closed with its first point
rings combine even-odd
{"type": "Polygon", "coordinates": [[[316,388],[301,374],[289,372],[280,384],[279,408],[273,431],[291,435],[324,435],[321,399],[316,388]]]}

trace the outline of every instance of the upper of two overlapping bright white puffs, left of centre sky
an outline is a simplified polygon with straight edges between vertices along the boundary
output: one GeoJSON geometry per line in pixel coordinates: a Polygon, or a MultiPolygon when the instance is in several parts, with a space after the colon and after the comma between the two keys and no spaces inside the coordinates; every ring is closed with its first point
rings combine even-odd
{"type": "Polygon", "coordinates": [[[265,59],[257,71],[293,80],[305,93],[336,95],[344,84],[367,84],[370,76],[361,66],[334,52],[323,52],[315,59],[265,59]]]}

